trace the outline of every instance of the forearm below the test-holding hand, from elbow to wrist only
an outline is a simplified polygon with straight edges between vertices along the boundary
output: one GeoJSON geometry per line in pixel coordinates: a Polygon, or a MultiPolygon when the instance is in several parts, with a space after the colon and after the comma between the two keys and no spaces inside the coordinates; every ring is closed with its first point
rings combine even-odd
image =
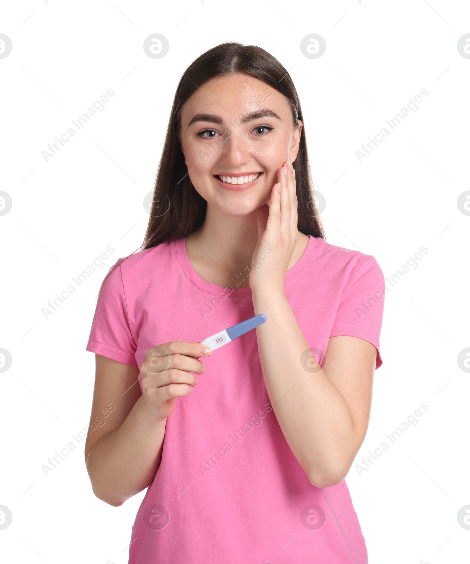
{"type": "Polygon", "coordinates": [[[122,505],[153,482],[161,461],[165,425],[166,419],[152,420],[140,396],[123,424],[94,444],[86,466],[99,499],[122,505]]]}

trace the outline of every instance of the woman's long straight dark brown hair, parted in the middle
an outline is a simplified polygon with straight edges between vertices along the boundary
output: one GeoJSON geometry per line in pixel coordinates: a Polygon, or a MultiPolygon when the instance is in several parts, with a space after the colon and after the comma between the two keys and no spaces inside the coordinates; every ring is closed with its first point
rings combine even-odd
{"type": "MultiPolygon", "coordinates": [[[[291,105],[294,127],[299,126],[298,120],[304,122],[299,96],[289,73],[276,58],[261,47],[230,41],[212,47],[200,55],[186,69],[176,89],[158,166],[147,232],[143,245],[137,250],[145,250],[161,243],[181,239],[196,231],[204,223],[207,202],[199,195],[189,178],[179,142],[181,109],[190,96],[211,78],[237,72],[250,74],[281,92],[291,105]]],[[[299,152],[295,159],[295,182],[298,199],[298,230],[305,235],[325,239],[313,197],[305,126],[301,131],[299,152]]],[[[127,255],[123,260],[130,256],[127,255]]]]}

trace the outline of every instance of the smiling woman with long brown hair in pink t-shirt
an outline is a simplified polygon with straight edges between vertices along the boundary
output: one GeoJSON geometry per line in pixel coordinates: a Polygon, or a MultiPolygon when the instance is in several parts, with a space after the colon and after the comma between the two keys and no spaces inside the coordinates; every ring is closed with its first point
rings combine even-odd
{"type": "Polygon", "coordinates": [[[374,257],[324,240],[286,69],[240,43],[201,55],[176,91],[143,250],[107,275],[87,345],[93,490],[117,506],[148,487],[129,562],[367,562],[343,481],[384,291],[374,257]]]}

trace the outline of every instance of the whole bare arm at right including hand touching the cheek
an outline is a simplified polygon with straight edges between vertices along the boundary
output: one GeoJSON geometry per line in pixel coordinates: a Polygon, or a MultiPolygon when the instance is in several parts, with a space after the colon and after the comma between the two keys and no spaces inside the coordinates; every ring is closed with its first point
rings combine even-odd
{"type": "Polygon", "coordinates": [[[268,317],[256,328],[261,368],[282,432],[310,482],[334,486],[348,473],[367,431],[376,349],[363,339],[340,336],[330,338],[323,369],[309,355],[284,292],[299,239],[290,162],[280,169],[278,180],[268,205],[258,208],[253,259],[263,263],[249,279],[255,314],[268,317]]]}

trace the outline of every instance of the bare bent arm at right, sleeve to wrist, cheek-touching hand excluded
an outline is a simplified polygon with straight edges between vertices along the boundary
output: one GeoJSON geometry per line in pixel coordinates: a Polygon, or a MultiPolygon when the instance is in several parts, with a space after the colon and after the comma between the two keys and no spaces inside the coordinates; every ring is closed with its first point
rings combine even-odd
{"type": "Polygon", "coordinates": [[[376,349],[357,337],[332,337],[322,369],[308,354],[285,296],[255,295],[254,303],[255,314],[269,315],[256,336],[282,432],[311,483],[334,486],[349,472],[366,435],[376,349]]]}

